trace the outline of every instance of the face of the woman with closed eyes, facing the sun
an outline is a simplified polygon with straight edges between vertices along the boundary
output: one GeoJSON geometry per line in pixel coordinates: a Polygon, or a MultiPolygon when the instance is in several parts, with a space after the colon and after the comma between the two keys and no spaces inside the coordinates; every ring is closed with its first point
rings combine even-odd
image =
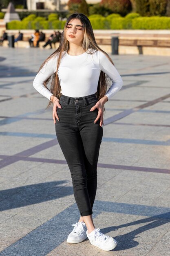
{"type": "Polygon", "coordinates": [[[82,46],[84,38],[84,27],[79,19],[73,19],[68,22],[66,27],[66,39],[69,43],[82,46]]]}

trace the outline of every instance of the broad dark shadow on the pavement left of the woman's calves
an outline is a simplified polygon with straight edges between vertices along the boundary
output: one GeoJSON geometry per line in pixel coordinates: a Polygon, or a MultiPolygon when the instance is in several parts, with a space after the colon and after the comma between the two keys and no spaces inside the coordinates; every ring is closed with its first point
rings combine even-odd
{"type": "Polygon", "coordinates": [[[44,182],[0,191],[0,211],[38,204],[73,194],[67,180],[44,182]]]}

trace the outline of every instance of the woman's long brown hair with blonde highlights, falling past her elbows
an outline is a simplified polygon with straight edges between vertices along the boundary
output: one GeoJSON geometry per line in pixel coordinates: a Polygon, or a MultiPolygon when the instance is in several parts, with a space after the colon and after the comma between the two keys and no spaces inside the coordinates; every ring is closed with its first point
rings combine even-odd
{"type": "MultiPolygon", "coordinates": [[[[87,51],[89,48],[91,48],[91,49],[95,49],[95,50],[99,50],[99,51],[103,52],[108,57],[110,62],[114,65],[110,56],[106,52],[104,52],[97,45],[96,40],[95,40],[95,36],[94,36],[94,33],[93,33],[93,28],[91,26],[91,22],[87,18],[87,16],[84,15],[83,13],[73,13],[73,14],[71,14],[71,16],[69,16],[68,19],[66,20],[64,30],[63,30],[63,32],[60,36],[60,45],[59,45],[59,47],[55,50],[55,52],[53,52],[44,61],[44,63],[42,63],[42,65],[40,67],[40,70],[41,70],[41,68],[44,66],[44,64],[50,58],[53,58],[53,57],[57,56],[57,70],[53,75],[51,75],[48,79],[46,79],[46,81],[44,81],[44,86],[47,88],[47,84],[52,79],[51,80],[50,91],[58,99],[60,99],[60,96],[61,96],[61,86],[60,86],[60,81],[59,81],[59,77],[58,77],[57,72],[58,72],[58,68],[60,66],[60,61],[61,61],[61,58],[64,54],[64,51],[68,52],[68,50],[69,50],[69,42],[66,39],[66,28],[67,28],[68,23],[70,23],[70,21],[72,19],[79,19],[82,22],[82,25],[84,27],[84,39],[83,39],[83,43],[82,43],[82,48],[85,51],[87,51]]],[[[93,54],[93,53],[89,53],[89,54],[93,54]]],[[[107,79],[105,73],[103,71],[101,71],[100,76],[99,76],[98,86],[97,86],[97,93],[96,93],[97,94],[97,99],[101,99],[102,97],[104,97],[104,95],[106,94],[107,89],[108,89],[108,79],[107,79]]],[[[51,104],[52,104],[52,101],[49,102],[47,108],[49,108],[51,106],[51,104]]]]}

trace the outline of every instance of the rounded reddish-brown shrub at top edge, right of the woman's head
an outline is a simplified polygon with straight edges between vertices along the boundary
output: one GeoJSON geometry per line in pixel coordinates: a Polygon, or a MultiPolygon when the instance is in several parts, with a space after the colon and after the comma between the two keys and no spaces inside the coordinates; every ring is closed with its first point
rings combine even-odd
{"type": "Polygon", "coordinates": [[[102,0],[100,5],[110,9],[113,13],[121,14],[121,16],[125,16],[132,10],[130,0],[102,0]]]}

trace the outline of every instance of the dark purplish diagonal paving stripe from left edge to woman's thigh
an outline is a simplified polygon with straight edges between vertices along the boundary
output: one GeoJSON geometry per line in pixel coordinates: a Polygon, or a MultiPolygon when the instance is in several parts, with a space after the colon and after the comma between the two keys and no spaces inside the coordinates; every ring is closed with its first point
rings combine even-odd
{"type": "Polygon", "coordinates": [[[20,159],[24,159],[25,157],[29,157],[30,155],[34,155],[42,150],[45,150],[47,148],[51,148],[52,146],[55,146],[58,144],[57,139],[52,139],[50,141],[44,142],[38,146],[34,146],[32,148],[29,148],[27,150],[21,151],[20,153],[17,153],[15,155],[11,155],[9,157],[6,157],[0,161],[0,168],[4,168],[5,166],[9,164],[13,164],[15,162],[20,161],[20,159]]]}

